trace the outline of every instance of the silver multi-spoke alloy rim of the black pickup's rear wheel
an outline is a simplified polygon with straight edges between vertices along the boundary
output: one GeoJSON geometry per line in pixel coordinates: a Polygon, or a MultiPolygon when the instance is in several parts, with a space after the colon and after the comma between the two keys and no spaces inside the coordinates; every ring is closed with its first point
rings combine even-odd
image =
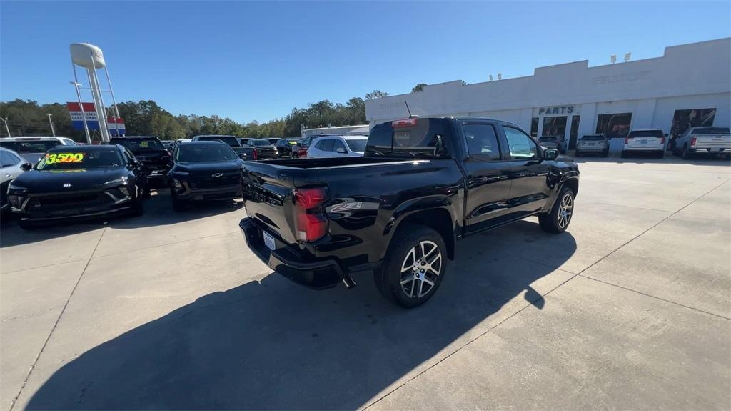
{"type": "Polygon", "coordinates": [[[421,298],[442,274],[442,252],[433,241],[421,241],[406,254],[401,263],[401,290],[409,298],[421,298]]]}

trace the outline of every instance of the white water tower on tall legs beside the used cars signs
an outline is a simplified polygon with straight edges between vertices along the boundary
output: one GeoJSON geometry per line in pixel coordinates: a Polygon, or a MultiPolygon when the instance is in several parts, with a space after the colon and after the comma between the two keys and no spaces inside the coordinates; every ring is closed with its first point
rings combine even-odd
{"type": "MultiPolygon", "coordinates": [[[[94,98],[94,110],[96,110],[96,118],[99,120],[99,133],[102,135],[102,141],[109,141],[110,130],[107,125],[107,109],[104,105],[104,99],[102,99],[102,88],[99,86],[99,78],[96,75],[97,69],[104,69],[107,77],[107,85],[109,86],[109,92],[112,95],[112,102],[114,105],[115,121],[113,124],[115,126],[117,124],[117,119],[119,118],[119,110],[117,109],[117,102],[114,99],[112,82],[109,78],[109,71],[107,70],[107,64],[104,61],[102,49],[88,43],[73,43],[72,45],[69,45],[69,51],[71,52],[71,65],[74,70],[74,85],[77,88],[77,92],[80,85],[76,74],[76,66],[79,66],[86,69],[89,82],[88,89],[91,90],[91,97],[94,98]]],[[[80,100],[81,97],[79,96],[79,105],[82,105],[80,100]]],[[[83,113],[83,108],[81,108],[81,110],[83,113]]],[[[86,114],[84,114],[84,125],[86,128],[86,114]]],[[[115,134],[119,135],[119,130],[117,130],[115,134]]]]}

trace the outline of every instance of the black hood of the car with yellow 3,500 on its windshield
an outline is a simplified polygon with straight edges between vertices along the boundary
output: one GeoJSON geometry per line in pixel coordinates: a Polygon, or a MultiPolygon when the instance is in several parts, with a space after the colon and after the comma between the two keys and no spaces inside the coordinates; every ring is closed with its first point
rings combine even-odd
{"type": "Polygon", "coordinates": [[[30,194],[43,192],[79,191],[102,187],[129,173],[125,167],[91,170],[31,170],[15,178],[13,185],[28,189],[30,194]],[[64,184],[71,184],[65,186],[64,184]]]}

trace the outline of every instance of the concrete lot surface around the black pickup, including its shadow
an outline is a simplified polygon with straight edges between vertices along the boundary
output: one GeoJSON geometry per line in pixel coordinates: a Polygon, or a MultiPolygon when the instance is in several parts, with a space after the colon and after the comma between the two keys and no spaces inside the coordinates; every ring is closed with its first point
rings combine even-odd
{"type": "Polygon", "coordinates": [[[271,274],[241,203],[4,222],[2,410],[730,409],[729,163],[580,163],[567,233],[467,238],[413,310],[368,275],[317,292],[271,274]]]}

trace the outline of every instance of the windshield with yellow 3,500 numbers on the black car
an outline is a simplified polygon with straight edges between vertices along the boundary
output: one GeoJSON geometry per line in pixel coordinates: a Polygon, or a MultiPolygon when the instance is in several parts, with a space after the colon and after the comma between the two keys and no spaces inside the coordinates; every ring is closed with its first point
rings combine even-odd
{"type": "Polygon", "coordinates": [[[84,150],[79,146],[69,150],[54,150],[46,153],[38,165],[37,170],[88,170],[90,168],[112,168],[124,165],[124,160],[118,149],[91,149],[84,150]]]}

